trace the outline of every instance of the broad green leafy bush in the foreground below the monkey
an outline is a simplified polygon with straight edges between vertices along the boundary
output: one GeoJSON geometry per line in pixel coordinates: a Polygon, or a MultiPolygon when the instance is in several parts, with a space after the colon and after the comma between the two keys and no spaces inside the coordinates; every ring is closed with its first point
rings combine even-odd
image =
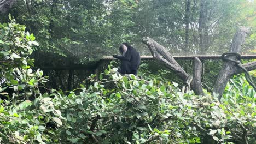
{"type": "Polygon", "coordinates": [[[230,103],[225,99],[233,97],[232,94],[226,94],[223,103],[219,103],[217,95],[202,97],[192,92],[183,95],[177,83],[152,80],[147,84],[133,75],[129,79],[111,71],[115,70],[105,71],[109,79],[98,81],[93,79],[95,75],[90,77],[95,84],[89,89],[79,89],[82,90],[79,94],[71,92],[68,97],[55,98],[69,127],[61,130],[62,140],[73,143],[243,143],[244,127],[248,141],[254,141],[252,95],[244,96],[247,98],[244,106],[240,101],[230,103]],[[106,89],[104,85],[108,82],[115,83],[115,88],[106,89]]]}

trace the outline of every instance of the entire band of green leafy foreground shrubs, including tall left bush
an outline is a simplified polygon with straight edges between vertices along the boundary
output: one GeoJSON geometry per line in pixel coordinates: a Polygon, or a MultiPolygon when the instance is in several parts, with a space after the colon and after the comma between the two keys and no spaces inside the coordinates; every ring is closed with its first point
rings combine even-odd
{"type": "Polygon", "coordinates": [[[100,79],[89,77],[89,88],[57,91],[32,70],[38,43],[25,29],[14,19],[0,24],[1,143],[255,142],[256,93],[241,75],[221,101],[182,94],[161,75],[145,77],[149,83],[123,77],[111,65],[100,79]]]}

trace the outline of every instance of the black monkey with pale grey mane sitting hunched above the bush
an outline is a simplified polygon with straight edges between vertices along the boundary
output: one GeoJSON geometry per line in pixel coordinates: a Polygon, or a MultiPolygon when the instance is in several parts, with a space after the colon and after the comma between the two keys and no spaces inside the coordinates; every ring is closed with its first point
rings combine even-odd
{"type": "Polygon", "coordinates": [[[127,43],[122,43],[119,47],[119,55],[113,55],[114,58],[121,60],[121,67],[118,72],[121,74],[134,74],[137,75],[141,56],[132,46],[127,43]]]}

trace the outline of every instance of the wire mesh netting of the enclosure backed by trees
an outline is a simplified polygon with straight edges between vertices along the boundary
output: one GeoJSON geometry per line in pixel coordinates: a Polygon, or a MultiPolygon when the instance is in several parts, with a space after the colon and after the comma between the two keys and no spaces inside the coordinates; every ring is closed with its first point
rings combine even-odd
{"type": "MultiPolygon", "coordinates": [[[[75,84],[96,73],[96,69],[101,71],[98,59],[118,53],[124,41],[141,56],[151,55],[141,43],[146,36],[174,56],[221,55],[228,52],[237,27],[246,26],[250,32],[241,52],[254,54],[255,10],[253,0],[16,0],[8,13],[36,36],[39,46],[34,47],[31,56],[36,68],[46,70],[53,87],[66,89],[73,87],[69,79],[75,84]]],[[[1,23],[8,19],[8,15],[0,14],[1,23]]],[[[148,63],[147,69],[152,73],[166,69],[152,60],[143,62],[148,63]]],[[[208,79],[211,86],[221,62],[214,60],[207,65],[209,62],[205,63],[203,79],[208,79]]],[[[193,62],[179,63],[191,72],[193,62]]],[[[167,77],[175,76],[170,73],[167,77]]]]}

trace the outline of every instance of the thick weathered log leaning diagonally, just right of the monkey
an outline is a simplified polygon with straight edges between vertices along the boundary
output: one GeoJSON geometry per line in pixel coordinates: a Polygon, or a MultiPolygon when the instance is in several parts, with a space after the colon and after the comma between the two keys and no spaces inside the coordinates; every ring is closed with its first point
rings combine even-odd
{"type": "Polygon", "coordinates": [[[188,74],[183,70],[183,68],[175,61],[165,47],[156,43],[153,39],[149,37],[142,38],[142,43],[146,44],[152,53],[152,56],[160,62],[164,62],[168,68],[172,69],[183,81],[187,81],[188,74]],[[162,55],[162,57],[160,55],[162,55]]]}

